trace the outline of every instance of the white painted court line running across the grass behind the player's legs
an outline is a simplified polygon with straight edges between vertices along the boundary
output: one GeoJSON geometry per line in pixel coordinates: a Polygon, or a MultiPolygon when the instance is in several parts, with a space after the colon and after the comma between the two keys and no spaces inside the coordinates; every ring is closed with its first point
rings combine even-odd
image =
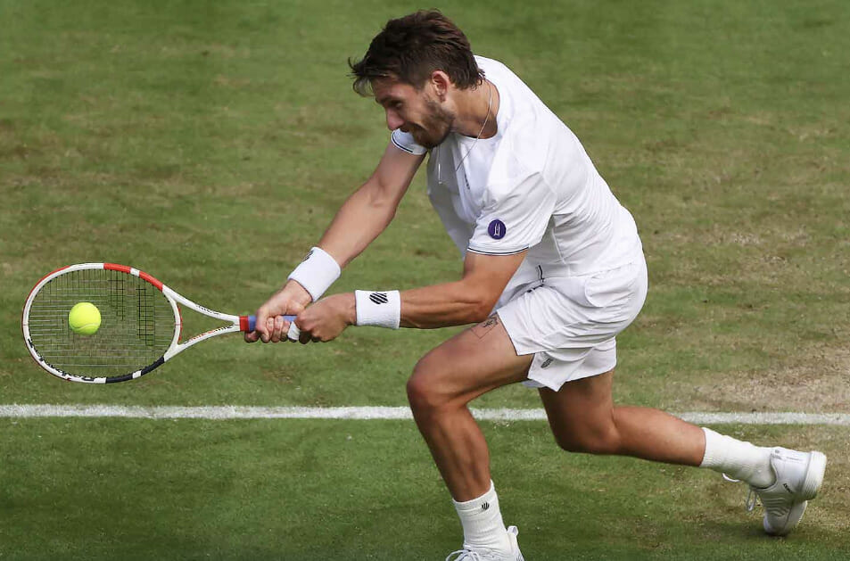
{"type": "MultiPolygon", "coordinates": [[[[543,409],[472,409],[484,421],[541,421],[543,409]]],[[[689,423],[705,425],[840,425],[850,426],[846,413],[673,413],[689,423]]],[[[0,405],[0,417],[125,417],[142,419],[402,419],[413,417],[407,407],[140,407],[122,405],[0,405]]]]}

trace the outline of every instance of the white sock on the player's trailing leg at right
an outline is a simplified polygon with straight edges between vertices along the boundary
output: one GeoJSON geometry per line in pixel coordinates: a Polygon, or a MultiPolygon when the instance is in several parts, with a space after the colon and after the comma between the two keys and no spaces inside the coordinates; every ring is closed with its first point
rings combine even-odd
{"type": "Polygon", "coordinates": [[[706,427],[703,431],[706,433],[706,453],[700,467],[727,474],[754,487],[769,487],[776,481],[771,468],[772,448],[738,441],[706,427]]]}

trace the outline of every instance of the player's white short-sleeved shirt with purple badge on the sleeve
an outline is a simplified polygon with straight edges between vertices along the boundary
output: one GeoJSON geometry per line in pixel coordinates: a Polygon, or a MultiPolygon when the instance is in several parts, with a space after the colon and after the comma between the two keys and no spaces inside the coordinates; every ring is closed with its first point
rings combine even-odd
{"type": "MultiPolygon", "coordinates": [[[[477,141],[450,133],[433,148],[428,195],[462,254],[528,250],[500,302],[535,282],[642,260],[634,219],[573,131],[504,64],[475,60],[499,91],[498,132],[477,141]]],[[[400,130],[392,142],[426,152],[400,130]]]]}

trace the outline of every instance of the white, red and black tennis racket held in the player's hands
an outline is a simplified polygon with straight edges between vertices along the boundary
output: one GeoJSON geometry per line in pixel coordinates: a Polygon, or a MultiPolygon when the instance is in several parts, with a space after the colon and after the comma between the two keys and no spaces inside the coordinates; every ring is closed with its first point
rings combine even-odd
{"type": "Polygon", "coordinates": [[[210,337],[253,331],[254,323],[253,316],[204,308],[144,271],[114,263],[70,265],[44,276],[30,291],[21,320],[24,341],[38,366],[63,380],[87,384],[135,380],[210,337]],[[95,334],[76,334],[70,328],[70,309],[81,301],[100,310],[95,334]],[[180,342],[178,304],[228,325],[180,342]]]}

